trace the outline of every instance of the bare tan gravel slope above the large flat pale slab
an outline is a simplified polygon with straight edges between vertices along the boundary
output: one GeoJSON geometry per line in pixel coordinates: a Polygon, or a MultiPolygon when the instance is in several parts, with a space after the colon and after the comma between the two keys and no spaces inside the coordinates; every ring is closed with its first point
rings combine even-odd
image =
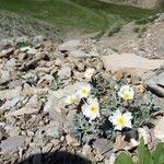
{"type": "Polygon", "coordinates": [[[118,52],[134,52],[151,59],[163,59],[163,33],[164,14],[162,13],[154,21],[145,19],[139,24],[132,22],[125,25],[119,33],[112,37],[104,36],[102,44],[118,52]]]}

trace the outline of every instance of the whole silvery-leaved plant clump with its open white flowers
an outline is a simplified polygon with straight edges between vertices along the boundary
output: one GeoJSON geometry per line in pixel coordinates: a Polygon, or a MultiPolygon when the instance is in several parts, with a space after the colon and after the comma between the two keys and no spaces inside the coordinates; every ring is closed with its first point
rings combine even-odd
{"type": "Polygon", "coordinates": [[[137,95],[126,79],[114,80],[101,73],[92,75],[90,84],[74,94],[79,105],[70,131],[81,144],[91,144],[97,138],[114,140],[118,133],[151,126],[153,114],[160,110],[150,92],[137,95]]]}

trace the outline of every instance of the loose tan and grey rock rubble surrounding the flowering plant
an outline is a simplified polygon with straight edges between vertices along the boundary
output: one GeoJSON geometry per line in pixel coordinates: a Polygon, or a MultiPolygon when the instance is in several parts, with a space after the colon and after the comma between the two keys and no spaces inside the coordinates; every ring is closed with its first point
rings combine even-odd
{"type": "MultiPolygon", "coordinates": [[[[61,45],[36,38],[28,42],[28,46],[21,46],[16,40],[14,45],[7,44],[0,52],[1,164],[16,164],[33,154],[39,154],[31,159],[33,164],[82,163],[78,157],[68,162],[68,153],[85,156],[98,164],[109,163],[112,153],[108,148],[106,151],[101,148],[104,141],[81,147],[69,132],[77,109],[63,107],[63,98],[77,89],[77,84],[87,82],[84,77],[87,68],[115,79],[121,79],[124,73],[127,77],[131,74],[130,80],[140,93],[145,90],[145,77],[154,74],[148,86],[164,96],[164,77],[159,78],[155,73],[155,70],[159,70],[157,75],[163,72],[162,59],[149,60],[134,54],[120,56],[91,39],[61,45]],[[58,156],[51,157],[54,152],[58,156]],[[67,155],[61,155],[61,152],[67,155]]],[[[157,101],[163,103],[164,99],[157,101]]],[[[164,121],[163,117],[161,121],[164,121]]],[[[155,137],[163,130],[156,125],[155,137]]],[[[115,143],[116,150],[125,147],[120,145],[120,141],[115,143]]],[[[90,162],[83,160],[83,163],[90,162]]]]}

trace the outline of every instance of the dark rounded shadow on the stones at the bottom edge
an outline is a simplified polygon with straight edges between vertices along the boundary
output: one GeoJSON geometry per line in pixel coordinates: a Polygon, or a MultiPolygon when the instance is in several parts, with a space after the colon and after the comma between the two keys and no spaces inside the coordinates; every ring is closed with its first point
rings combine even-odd
{"type": "Polygon", "coordinates": [[[56,151],[45,154],[34,154],[19,164],[92,164],[92,162],[78,154],[56,151]]]}

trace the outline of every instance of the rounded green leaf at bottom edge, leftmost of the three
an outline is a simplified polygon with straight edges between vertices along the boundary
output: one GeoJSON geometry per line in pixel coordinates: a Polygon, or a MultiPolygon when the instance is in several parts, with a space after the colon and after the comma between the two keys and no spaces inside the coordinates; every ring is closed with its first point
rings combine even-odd
{"type": "Polygon", "coordinates": [[[133,163],[130,156],[128,156],[126,153],[120,153],[117,156],[115,164],[133,164],[133,163]]]}

